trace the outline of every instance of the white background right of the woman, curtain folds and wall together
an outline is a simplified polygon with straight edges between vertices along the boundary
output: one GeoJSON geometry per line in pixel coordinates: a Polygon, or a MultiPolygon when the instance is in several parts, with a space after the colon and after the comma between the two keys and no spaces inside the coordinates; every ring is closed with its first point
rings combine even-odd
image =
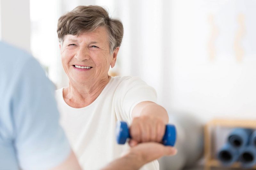
{"type": "Polygon", "coordinates": [[[170,113],[256,117],[255,1],[115,2],[121,75],[153,86],[170,113]]]}

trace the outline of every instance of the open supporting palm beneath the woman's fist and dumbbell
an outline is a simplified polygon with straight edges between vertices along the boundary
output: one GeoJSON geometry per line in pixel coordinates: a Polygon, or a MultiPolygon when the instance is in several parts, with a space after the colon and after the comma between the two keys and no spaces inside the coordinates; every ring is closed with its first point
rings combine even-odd
{"type": "Polygon", "coordinates": [[[163,156],[172,156],[176,153],[177,150],[174,147],[164,146],[156,142],[146,142],[132,147],[129,154],[136,155],[138,161],[144,165],[163,156]]]}

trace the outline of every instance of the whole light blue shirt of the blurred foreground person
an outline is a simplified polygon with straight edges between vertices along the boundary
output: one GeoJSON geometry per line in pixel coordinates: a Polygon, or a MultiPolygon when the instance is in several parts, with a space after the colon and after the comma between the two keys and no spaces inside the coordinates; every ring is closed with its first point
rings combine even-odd
{"type": "Polygon", "coordinates": [[[0,170],[49,169],[70,154],[54,86],[29,54],[0,42],[0,170]]]}

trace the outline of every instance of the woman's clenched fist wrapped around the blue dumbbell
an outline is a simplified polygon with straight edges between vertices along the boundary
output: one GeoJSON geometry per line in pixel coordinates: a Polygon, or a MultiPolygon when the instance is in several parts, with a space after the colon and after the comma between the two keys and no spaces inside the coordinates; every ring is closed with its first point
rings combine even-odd
{"type": "Polygon", "coordinates": [[[131,147],[142,142],[161,143],[164,137],[165,123],[161,118],[150,115],[134,117],[130,126],[132,139],[129,141],[131,147]]]}

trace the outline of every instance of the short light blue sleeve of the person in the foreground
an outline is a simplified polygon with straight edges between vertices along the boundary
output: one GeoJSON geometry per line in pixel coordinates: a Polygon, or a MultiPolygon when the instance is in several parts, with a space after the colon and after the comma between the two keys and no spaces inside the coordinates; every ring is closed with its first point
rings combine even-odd
{"type": "Polygon", "coordinates": [[[26,170],[57,166],[71,150],[59,125],[54,86],[33,58],[17,74],[12,117],[19,165],[26,170]]]}

